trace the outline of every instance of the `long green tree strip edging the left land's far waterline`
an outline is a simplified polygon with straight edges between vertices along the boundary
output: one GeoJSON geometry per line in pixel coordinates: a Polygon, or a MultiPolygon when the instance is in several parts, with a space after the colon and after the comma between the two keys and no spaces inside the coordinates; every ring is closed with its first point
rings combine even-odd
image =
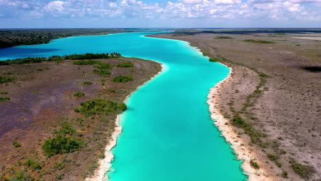
{"type": "MultiPolygon", "coordinates": [[[[69,55],[69,56],[51,56],[49,58],[45,57],[38,57],[38,58],[18,58],[15,60],[5,60],[5,61],[0,61],[0,66],[1,65],[10,65],[10,64],[31,64],[31,63],[40,63],[40,62],[60,62],[63,60],[93,60],[93,59],[108,59],[108,58],[120,58],[121,54],[120,53],[85,53],[85,54],[74,54],[74,55],[69,55]]],[[[82,63],[87,63],[87,62],[82,62],[82,61],[77,61],[79,62],[80,65],[82,63]]],[[[97,63],[99,63],[97,61],[97,63]]],[[[76,63],[77,64],[77,63],[76,63]]]]}

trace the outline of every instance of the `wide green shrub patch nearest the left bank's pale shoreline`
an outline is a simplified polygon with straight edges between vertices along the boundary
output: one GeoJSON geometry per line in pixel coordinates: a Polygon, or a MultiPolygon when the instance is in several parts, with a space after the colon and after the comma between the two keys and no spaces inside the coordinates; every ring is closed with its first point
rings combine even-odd
{"type": "Polygon", "coordinates": [[[86,117],[95,114],[119,114],[126,110],[126,104],[106,99],[93,99],[80,104],[80,108],[76,108],[75,112],[80,112],[86,117]]]}

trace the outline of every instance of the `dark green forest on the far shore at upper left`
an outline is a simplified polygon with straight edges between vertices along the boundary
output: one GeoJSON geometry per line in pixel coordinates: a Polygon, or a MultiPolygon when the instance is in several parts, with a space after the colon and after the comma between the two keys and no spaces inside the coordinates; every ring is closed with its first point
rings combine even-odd
{"type": "Polygon", "coordinates": [[[17,45],[49,43],[50,40],[70,36],[103,35],[124,32],[120,29],[3,29],[0,32],[0,48],[17,45]]]}

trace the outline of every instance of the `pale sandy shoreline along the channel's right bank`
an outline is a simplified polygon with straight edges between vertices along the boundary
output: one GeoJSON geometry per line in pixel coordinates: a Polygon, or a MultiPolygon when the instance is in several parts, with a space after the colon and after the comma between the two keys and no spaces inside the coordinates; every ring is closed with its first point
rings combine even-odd
{"type": "MultiPolygon", "coordinates": [[[[218,62],[219,63],[219,62],[218,62]]],[[[219,63],[222,64],[222,63],[219,63]]],[[[223,64],[225,67],[225,64],[223,64]]],[[[244,174],[248,176],[248,181],[272,181],[274,180],[272,177],[269,177],[268,171],[263,167],[260,169],[254,169],[250,165],[250,160],[259,158],[256,153],[252,151],[252,149],[248,146],[248,143],[237,134],[235,127],[230,124],[229,119],[224,118],[222,112],[220,112],[219,108],[217,107],[217,102],[219,101],[217,97],[219,97],[219,90],[223,86],[223,84],[230,82],[232,80],[231,73],[233,73],[234,69],[228,67],[230,72],[228,76],[221,80],[213,88],[210,88],[210,93],[207,95],[209,99],[206,101],[209,104],[209,112],[211,114],[211,119],[213,120],[213,124],[217,126],[219,132],[221,132],[221,136],[223,136],[227,143],[230,144],[230,147],[233,149],[234,154],[237,160],[242,160],[241,169],[243,170],[244,174]]],[[[260,163],[261,160],[255,160],[260,163]]],[[[262,165],[262,164],[259,164],[262,165]]]]}

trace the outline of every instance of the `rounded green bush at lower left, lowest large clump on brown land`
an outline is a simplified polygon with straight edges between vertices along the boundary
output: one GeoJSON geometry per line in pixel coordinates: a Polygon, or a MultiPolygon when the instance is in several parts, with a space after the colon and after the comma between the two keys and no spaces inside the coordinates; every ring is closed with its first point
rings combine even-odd
{"type": "Polygon", "coordinates": [[[74,137],[56,137],[48,139],[43,145],[43,151],[47,156],[53,156],[55,154],[67,154],[75,152],[82,146],[82,142],[78,138],[74,137]]]}

